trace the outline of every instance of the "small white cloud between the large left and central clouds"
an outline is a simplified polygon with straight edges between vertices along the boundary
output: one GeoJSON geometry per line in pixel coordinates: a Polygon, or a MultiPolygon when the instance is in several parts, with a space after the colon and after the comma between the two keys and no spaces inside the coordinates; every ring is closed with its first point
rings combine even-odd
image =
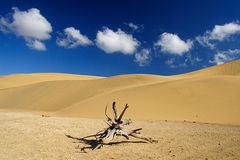
{"type": "Polygon", "coordinates": [[[92,41],[87,36],[81,34],[81,32],[74,27],[68,27],[64,29],[64,33],[60,33],[60,37],[57,37],[57,45],[65,48],[76,48],[78,46],[91,45],[92,41]]]}

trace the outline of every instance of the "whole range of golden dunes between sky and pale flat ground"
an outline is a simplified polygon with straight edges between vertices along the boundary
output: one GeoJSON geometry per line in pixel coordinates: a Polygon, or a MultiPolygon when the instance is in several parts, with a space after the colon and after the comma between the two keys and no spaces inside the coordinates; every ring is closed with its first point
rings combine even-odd
{"type": "Polygon", "coordinates": [[[240,60],[176,76],[24,74],[0,78],[0,108],[102,117],[107,103],[126,116],[240,125],[240,60]]]}

